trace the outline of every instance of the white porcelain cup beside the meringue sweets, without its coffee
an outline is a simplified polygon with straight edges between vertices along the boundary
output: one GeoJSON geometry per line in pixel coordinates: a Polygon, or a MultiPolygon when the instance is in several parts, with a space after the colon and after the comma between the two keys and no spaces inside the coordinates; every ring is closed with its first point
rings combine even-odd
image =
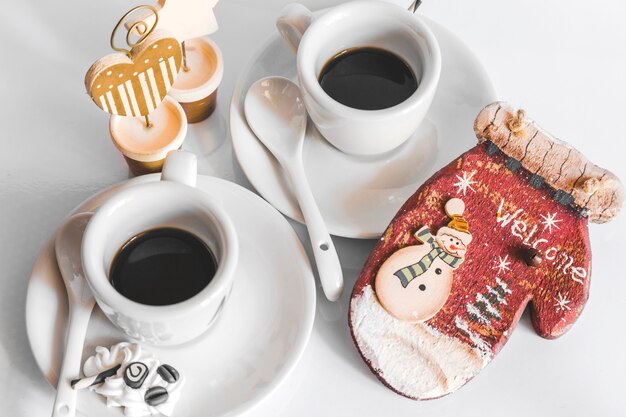
{"type": "Polygon", "coordinates": [[[213,324],[233,284],[239,246],[237,234],[219,202],[195,189],[194,154],[171,151],[161,181],[133,185],[108,199],[89,221],[82,241],[82,264],[96,302],[128,336],[153,345],[192,340],[213,324]],[[171,305],[135,302],[111,284],[109,271],[118,250],[132,237],[159,227],[175,227],[202,240],[218,268],[193,297],[171,305]]]}

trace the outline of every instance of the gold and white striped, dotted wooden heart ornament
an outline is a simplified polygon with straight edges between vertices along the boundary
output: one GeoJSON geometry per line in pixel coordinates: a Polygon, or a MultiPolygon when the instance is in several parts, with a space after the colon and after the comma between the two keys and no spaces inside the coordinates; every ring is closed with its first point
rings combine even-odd
{"type": "Polygon", "coordinates": [[[87,71],[85,87],[107,113],[146,116],[163,101],[180,70],[178,41],[162,30],[130,50],[97,60],[87,71]]]}

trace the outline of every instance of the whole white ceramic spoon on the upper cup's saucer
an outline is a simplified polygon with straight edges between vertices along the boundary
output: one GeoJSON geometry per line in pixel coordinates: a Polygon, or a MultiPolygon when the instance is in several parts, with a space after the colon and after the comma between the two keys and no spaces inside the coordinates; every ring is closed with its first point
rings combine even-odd
{"type": "Polygon", "coordinates": [[[300,89],[283,77],[263,78],[248,90],[244,112],[254,134],[289,177],[309,231],[324,294],[330,301],[336,301],[343,291],[343,273],[304,172],[302,149],[307,113],[300,89]]]}

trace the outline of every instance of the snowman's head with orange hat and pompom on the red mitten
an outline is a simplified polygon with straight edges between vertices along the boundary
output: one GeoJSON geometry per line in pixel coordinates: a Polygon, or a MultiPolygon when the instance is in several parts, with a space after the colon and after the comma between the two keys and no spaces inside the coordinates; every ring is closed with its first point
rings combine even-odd
{"type": "Polygon", "coordinates": [[[460,198],[451,198],[446,202],[445,211],[451,220],[448,226],[439,228],[435,238],[446,252],[462,257],[472,241],[469,223],[463,217],[465,203],[460,198]]]}

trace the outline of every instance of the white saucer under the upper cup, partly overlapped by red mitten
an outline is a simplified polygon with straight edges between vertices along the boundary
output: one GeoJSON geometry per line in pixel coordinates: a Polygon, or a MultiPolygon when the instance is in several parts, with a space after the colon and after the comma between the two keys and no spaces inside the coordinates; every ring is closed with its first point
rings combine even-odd
{"type": "MultiPolygon", "coordinates": [[[[331,234],[380,236],[400,206],[428,177],[476,144],[474,118],[496,99],[489,76],[472,52],[448,30],[424,20],[439,41],[442,72],[427,118],[413,138],[384,156],[353,157],[330,145],[309,120],[304,165],[331,234]]],[[[302,222],[281,168],[244,117],[248,88],[269,75],[296,80],[295,57],[278,34],[252,58],[235,86],[230,105],[233,148],[256,190],[283,214],[302,222]]]]}

